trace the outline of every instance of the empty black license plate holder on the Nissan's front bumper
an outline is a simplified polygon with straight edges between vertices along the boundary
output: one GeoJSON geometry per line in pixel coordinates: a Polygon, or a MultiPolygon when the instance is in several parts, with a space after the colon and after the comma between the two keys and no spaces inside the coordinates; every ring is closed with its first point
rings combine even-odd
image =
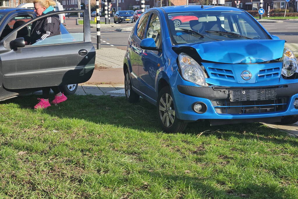
{"type": "Polygon", "coordinates": [[[274,88],[230,90],[229,94],[231,102],[276,99],[276,90],[274,88]]]}

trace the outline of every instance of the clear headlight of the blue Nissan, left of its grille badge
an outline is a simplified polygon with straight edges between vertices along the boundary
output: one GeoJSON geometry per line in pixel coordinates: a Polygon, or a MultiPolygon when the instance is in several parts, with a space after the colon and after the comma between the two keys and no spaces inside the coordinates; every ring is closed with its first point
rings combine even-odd
{"type": "Polygon", "coordinates": [[[181,74],[185,80],[200,86],[208,86],[205,80],[207,75],[200,64],[183,52],[179,54],[178,60],[181,68],[181,74]]]}

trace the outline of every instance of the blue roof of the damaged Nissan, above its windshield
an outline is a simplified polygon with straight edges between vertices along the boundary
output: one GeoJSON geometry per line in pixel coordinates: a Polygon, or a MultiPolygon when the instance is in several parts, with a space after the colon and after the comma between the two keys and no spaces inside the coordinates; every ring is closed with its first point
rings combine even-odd
{"type": "Polygon", "coordinates": [[[166,7],[159,7],[160,9],[164,10],[166,13],[174,13],[174,12],[192,12],[192,11],[240,11],[243,12],[243,10],[240,10],[236,7],[227,7],[227,6],[209,6],[204,5],[203,8],[201,8],[201,5],[184,5],[184,6],[166,6],[166,7]]]}

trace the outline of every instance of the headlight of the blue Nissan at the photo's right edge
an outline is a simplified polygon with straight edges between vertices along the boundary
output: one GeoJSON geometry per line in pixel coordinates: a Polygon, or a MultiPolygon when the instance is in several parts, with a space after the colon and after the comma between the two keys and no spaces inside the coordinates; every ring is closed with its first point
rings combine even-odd
{"type": "Polygon", "coordinates": [[[284,78],[295,78],[298,72],[298,62],[294,55],[294,53],[289,50],[285,49],[283,52],[283,68],[281,70],[281,74],[284,78]]]}

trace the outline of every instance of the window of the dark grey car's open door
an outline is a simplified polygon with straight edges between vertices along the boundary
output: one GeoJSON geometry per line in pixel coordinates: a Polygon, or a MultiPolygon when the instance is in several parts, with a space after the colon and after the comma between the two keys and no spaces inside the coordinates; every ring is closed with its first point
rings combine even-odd
{"type": "MultiPolygon", "coordinates": [[[[79,24],[84,23],[83,19],[78,22],[79,24]]],[[[30,46],[83,42],[83,27],[68,31],[63,24],[60,24],[59,15],[52,14],[18,30],[17,38],[23,37],[25,44],[30,46]]]]}

